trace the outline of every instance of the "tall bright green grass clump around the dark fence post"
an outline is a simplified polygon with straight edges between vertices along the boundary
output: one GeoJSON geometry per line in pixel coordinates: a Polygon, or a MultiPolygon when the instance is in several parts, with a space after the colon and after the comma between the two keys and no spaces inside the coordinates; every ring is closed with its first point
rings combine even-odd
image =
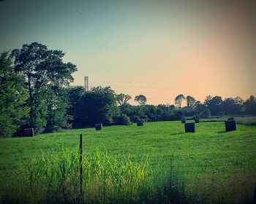
{"type": "Polygon", "coordinates": [[[129,154],[110,157],[101,149],[83,154],[83,193],[80,195],[78,152],[42,155],[19,169],[16,184],[1,192],[0,203],[137,203],[151,188],[148,158],[129,154]]]}

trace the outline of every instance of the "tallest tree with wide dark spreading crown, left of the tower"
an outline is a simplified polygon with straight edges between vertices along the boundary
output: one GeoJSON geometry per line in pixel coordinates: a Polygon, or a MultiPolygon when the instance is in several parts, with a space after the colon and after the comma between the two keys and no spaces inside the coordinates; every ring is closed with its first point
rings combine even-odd
{"type": "MultiPolygon", "coordinates": [[[[64,63],[64,52],[48,50],[38,42],[23,44],[21,49],[12,50],[15,71],[26,78],[29,92],[29,125],[42,132],[47,123],[47,97],[52,87],[65,87],[73,81],[72,73],[77,70],[72,63],[64,63]]],[[[65,111],[65,110],[64,110],[65,111]]]]}

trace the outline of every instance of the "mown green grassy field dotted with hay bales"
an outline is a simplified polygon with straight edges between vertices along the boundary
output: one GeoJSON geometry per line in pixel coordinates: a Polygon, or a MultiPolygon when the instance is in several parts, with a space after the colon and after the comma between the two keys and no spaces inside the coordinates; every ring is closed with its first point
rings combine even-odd
{"type": "MultiPolygon", "coordinates": [[[[29,173],[28,168],[31,170],[31,162],[37,165],[34,170],[36,177],[40,177],[38,166],[53,165],[49,158],[55,157],[56,160],[64,155],[69,158],[70,154],[73,157],[70,156],[69,162],[78,161],[79,157],[74,152],[78,152],[81,133],[84,160],[89,161],[90,157],[96,158],[101,154],[99,157],[104,158],[98,161],[102,162],[99,166],[103,170],[110,163],[115,164],[111,165],[113,171],[123,166],[125,171],[134,170],[138,188],[131,189],[132,183],[126,185],[127,189],[128,186],[130,188],[129,192],[138,191],[138,194],[137,197],[130,195],[126,203],[142,203],[143,200],[150,200],[151,203],[177,203],[177,200],[184,203],[252,203],[256,184],[256,127],[238,125],[237,129],[225,133],[224,122],[201,122],[196,124],[196,133],[184,133],[181,122],[146,122],[143,127],[111,126],[104,127],[102,131],[80,129],[34,138],[2,138],[0,202],[13,201],[15,195],[15,202],[18,202],[19,194],[15,192],[15,187],[23,181],[19,180],[19,175],[29,173]],[[143,184],[140,185],[140,182],[143,184]]],[[[74,169],[78,170],[78,167],[74,169]]],[[[57,168],[54,170],[58,171],[57,168]]],[[[49,169],[46,171],[49,172],[49,169]]],[[[101,189],[94,189],[96,183],[91,180],[93,184],[90,187],[84,184],[83,199],[91,203],[111,202],[108,188],[118,181],[114,182],[113,175],[111,177],[108,172],[106,176],[105,171],[99,170],[99,174],[100,178],[104,178],[104,181],[100,180],[101,189]],[[93,192],[96,192],[95,197],[93,192]]],[[[72,175],[78,176],[76,173],[72,175]]],[[[127,180],[133,179],[128,177],[127,180]]],[[[120,186],[124,187],[124,184],[120,186]]],[[[128,195],[127,192],[125,195],[128,195]]],[[[25,203],[38,202],[37,197],[34,200],[23,199],[25,203]]],[[[67,203],[65,199],[62,201],[67,203]]]]}

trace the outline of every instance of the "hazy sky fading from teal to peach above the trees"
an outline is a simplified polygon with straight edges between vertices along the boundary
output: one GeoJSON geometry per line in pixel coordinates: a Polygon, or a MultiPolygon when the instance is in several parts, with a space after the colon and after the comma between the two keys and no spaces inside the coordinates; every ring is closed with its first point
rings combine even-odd
{"type": "MultiPolygon", "coordinates": [[[[253,1],[251,1],[253,2],[253,1]]],[[[72,85],[110,86],[173,104],[256,95],[255,4],[250,1],[0,1],[0,52],[39,42],[63,50],[72,85]]]]}

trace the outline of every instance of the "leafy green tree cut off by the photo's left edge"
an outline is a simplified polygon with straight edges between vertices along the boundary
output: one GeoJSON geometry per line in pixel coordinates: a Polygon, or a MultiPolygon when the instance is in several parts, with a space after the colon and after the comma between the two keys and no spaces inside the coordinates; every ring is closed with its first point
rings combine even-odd
{"type": "Polygon", "coordinates": [[[12,136],[29,113],[24,106],[28,93],[25,80],[15,73],[8,52],[0,55],[0,136],[12,136]]]}

